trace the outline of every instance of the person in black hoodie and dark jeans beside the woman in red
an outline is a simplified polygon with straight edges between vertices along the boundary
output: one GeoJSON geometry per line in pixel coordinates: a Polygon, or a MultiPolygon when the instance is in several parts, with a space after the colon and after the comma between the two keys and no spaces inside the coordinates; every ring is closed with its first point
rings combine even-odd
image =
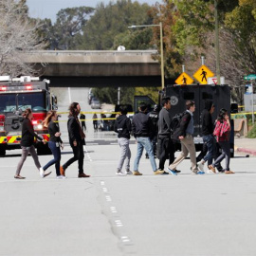
{"type": "Polygon", "coordinates": [[[201,172],[204,172],[204,164],[208,161],[208,166],[212,164],[213,158],[213,150],[214,150],[214,137],[213,137],[213,130],[214,125],[212,122],[211,115],[214,112],[214,104],[211,100],[205,101],[205,108],[201,115],[202,120],[202,136],[203,141],[207,146],[207,155],[203,157],[203,159],[199,162],[198,168],[201,172]]]}

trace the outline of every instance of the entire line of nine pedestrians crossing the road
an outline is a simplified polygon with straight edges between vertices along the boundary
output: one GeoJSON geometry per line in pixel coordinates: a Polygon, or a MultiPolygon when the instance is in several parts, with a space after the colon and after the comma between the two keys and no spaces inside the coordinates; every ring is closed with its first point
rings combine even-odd
{"type": "MultiPolygon", "coordinates": [[[[161,110],[159,111],[159,106],[156,105],[154,111],[151,113],[148,113],[147,105],[145,103],[141,103],[139,106],[139,113],[134,116],[132,121],[127,117],[127,108],[125,106],[120,107],[120,115],[116,119],[114,128],[115,132],[118,133],[120,147],[119,164],[116,173],[117,175],[142,175],[138,170],[138,166],[141,155],[143,154],[143,149],[145,149],[147,156],[150,159],[154,174],[177,175],[180,173],[180,171],[177,170],[177,166],[189,154],[192,164],[192,174],[205,174],[204,166],[206,163],[208,163],[207,167],[209,172],[216,173],[217,168],[218,172],[234,174],[229,169],[230,121],[226,109],[221,109],[218,119],[215,121],[215,123],[213,123],[211,115],[214,112],[214,104],[210,100],[205,101],[205,109],[201,116],[204,147],[200,155],[196,157],[192,137],[194,131],[194,101],[186,101],[186,111],[183,113],[183,116],[175,131],[173,131],[171,128],[171,99],[169,97],[165,97],[162,99],[161,103],[161,110]],[[130,169],[131,150],[129,141],[131,134],[133,134],[137,141],[137,155],[134,161],[133,172],[130,169]],[[174,138],[178,139],[181,143],[181,153],[176,158],[174,157],[174,138]],[[217,154],[218,147],[221,149],[221,154],[217,154]],[[157,155],[159,158],[158,168],[156,167],[155,163],[155,155],[157,155]],[[225,169],[223,169],[221,166],[221,161],[224,158],[226,158],[225,169]],[[164,165],[167,159],[169,159],[169,166],[165,171],[164,165]],[[215,160],[213,161],[213,159],[215,160]],[[125,171],[123,172],[122,167],[124,163],[125,171]]],[[[83,130],[86,128],[84,125],[81,125],[80,120],[78,119],[80,112],[81,106],[78,102],[73,102],[70,104],[67,130],[69,144],[73,151],[73,157],[67,160],[63,165],[61,165],[61,149],[63,149],[64,146],[61,138],[62,134],[57,121],[58,115],[56,111],[53,110],[47,113],[46,119],[43,121],[43,125],[48,129],[50,136],[48,147],[51,150],[54,158],[46,163],[44,167],[42,167],[35,151],[34,137],[42,141],[44,144],[46,144],[46,140],[39,137],[34,132],[32,124],[33,113],[31,109],[27,108],[23,114],[24,120],[21,138],[22,156],[18,163],[14,178],[25,178],[21,175],[21,170],[28,154],[33,157],[34,163],[42,178],[46,177],[48,174],[51,174],[51,172],[46,173],[46,170],[50,166],[55,165],[56,177],[58,179],[64,179],[67,168],[75,161],[78,161],[78,177],[89,177],[90,175],[84,174],[83,172],[83,145],[85,145],[85,134],[83,133],[83,130]]],[[[85,119],[85,117],[82,117],[81,119],[85,119]]]]}

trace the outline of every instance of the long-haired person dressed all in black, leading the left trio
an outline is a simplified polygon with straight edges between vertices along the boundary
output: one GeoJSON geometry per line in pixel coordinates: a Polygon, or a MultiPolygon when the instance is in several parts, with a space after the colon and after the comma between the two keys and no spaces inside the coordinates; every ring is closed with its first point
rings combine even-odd
{"type": "Polygon", "coordinates": [[[65,170],[69,165],[78,160],[78,168],[79,174],[78,177],[89,177],[90,175],[86,175],[83,173],[83,145],[85,145],[85,135],[82,132],[82,127],[78,116],[81,111],[81,106],[78,102],[73,102],[69,106],[69,116],[67,120],[67,130],[68,130],[68,138],[69,144],[73,150],[74,156],[70,158],[67,162],[61,166],[60,171],[61,174],[64,175],[65,170]]]}

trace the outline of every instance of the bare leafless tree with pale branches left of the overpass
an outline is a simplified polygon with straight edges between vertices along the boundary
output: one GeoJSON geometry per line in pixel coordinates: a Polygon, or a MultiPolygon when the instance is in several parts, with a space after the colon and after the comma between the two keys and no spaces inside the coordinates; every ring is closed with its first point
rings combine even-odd
{"type": "Polygon", "coordinates": [[[0,0],[0,17],[0,75],[34,75],[24,53],[46,46],[38,37],[40,24],[28,18],[25,0],[0,0]]]}

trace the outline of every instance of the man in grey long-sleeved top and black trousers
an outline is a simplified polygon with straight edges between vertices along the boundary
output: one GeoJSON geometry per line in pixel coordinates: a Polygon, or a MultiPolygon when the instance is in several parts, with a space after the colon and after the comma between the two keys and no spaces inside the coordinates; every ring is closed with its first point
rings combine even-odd
{"type": "MultiPolygon", "coordinates": [[[[170,97],[164,97],[162,99],[162,109],[159,113],[158,119],[158,158],[159,158],[159,168],[158,170],[164,171],[164,164],[166,159],[169,159],[169,165],[174,162],[174,143],[171,137],[171,99],[170,97]]],[[[174,170],[176,173],[177,171],[174,170]]],[[[164,172],[163,174],[169,174],[164,172]]]]}

